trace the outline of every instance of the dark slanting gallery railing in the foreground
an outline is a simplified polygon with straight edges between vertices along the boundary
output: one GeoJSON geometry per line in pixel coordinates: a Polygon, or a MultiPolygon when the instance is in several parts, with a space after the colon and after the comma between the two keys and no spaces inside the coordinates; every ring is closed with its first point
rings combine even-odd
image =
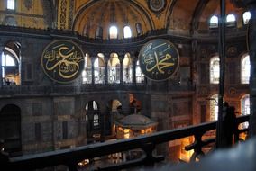
{"type": "MultiPolygon", "coordinates": [[[[239,116],[236,119],[236,130],[234,134],[234,142],[239,141],[239,134],[247,132],[248,129],[242,129],[241,123],[249,121],[249,115],[239,116]]],[[[188,126],[175,130],[164,130],[144,135],[133,139],[119,139],[114,141],[106,141],[103,143],[90,144],[83,147],[60,149],[56,151],[45,152],[36,155],[27,155],[22,157],[11,157],[8,170],[34,170],[50,166],[68,166],[69,171],[78,170],[78,162],[94,157],[103,157],[118,152],[141,148],[144,155],[135,160],[129,160],[123,163],[110,166],[97,167],[98,170],[120,170],[131,166],[145,166],[163,160],[163,156],[154,156],[153,151],[156,146],[164,142],[182,139],[194,136],[194,142],[186,147],[186,150],[194,149],[194,154],[190,160],[195,160],[198,155],[206,155],[203,148],[209,144],[215,144],[215,136],[210,139],[202,139],[206,132],[215,131],[216,121],[206,122],[197,126],[188,126]]],[[[213,145],[215,147],[215,145],[213,145]]],[[[2,163],[2,162],[1,162],[2,163]]],[[[4,163],[2,163],[4,164],[4,163]]],[[[2,165],[3,166],[3,165],[2,165]]]]}

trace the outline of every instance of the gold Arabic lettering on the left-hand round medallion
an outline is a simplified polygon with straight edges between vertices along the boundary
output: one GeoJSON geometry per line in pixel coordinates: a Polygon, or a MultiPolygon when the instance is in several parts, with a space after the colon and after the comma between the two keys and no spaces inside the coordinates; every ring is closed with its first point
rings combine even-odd
{"type": "Polygon", "coordinates": [[[79,71],[79,62],[83,60],[82,54],[74,46],[69,48],[60,44],[46,51],[45,67],[48,71],[58,72],[62,78],[72,78],[79,71]]]}

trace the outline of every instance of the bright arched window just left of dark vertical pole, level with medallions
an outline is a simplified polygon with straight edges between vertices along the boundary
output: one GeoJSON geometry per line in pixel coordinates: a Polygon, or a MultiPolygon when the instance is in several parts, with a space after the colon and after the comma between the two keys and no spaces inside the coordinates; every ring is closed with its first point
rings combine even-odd
{"type": "Polygon", "coordinates": [[[210,60],[210,83],[219,84],[220,77],[220,58],[213,57],[210,60]]]}

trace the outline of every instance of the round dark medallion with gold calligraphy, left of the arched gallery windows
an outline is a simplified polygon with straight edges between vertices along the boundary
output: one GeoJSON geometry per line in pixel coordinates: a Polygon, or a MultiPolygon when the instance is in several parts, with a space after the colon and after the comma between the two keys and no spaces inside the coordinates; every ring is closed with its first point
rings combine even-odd
{"type": "Polygon", "coordinates": [[[84,69],[83,51],[70,40],[52,41],[41,55],[41,67],[50,79],[59,83],[74,81],[84,69]]]}

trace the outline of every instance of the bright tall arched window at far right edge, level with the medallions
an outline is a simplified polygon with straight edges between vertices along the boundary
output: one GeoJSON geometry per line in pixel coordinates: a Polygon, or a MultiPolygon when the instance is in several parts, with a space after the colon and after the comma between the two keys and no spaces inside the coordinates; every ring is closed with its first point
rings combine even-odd
{"type": "Polygon", "coordinates": [[[249,84],[250,81],[250,73],[251,73],[251,64],[250,64],[250,56],[245,55],[242,57],[241,62],[241,83],[249,84]]]}

